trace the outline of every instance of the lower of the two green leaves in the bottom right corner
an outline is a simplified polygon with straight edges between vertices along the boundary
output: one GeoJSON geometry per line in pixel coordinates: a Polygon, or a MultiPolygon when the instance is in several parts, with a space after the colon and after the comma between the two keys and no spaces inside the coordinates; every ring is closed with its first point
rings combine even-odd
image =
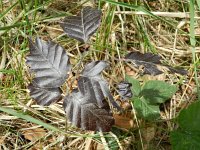
{"type": "Polygon", "coordinates": [[[173,150],[199,150],[200,133],[189,133],[181,130],[170,134],[170,142],[173,150]]]}

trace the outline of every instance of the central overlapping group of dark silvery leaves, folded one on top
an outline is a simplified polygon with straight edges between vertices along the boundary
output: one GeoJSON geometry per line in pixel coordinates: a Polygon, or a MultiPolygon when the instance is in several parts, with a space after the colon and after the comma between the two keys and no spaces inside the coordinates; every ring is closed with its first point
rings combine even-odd
{"type": "Polygon", "coordinates": [[[106,66],[104,61],[87,64],[78,80],[78,89],[64,99],[67,118],[83,130],[110,131],[114,119],[109,103],[121,110],[112,97],[107,82],[100,76],[106,66]]]}

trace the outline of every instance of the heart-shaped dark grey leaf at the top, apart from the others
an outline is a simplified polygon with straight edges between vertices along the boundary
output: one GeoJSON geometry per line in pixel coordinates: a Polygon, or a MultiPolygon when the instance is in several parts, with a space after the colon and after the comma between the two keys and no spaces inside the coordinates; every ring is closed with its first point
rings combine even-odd
{"type": "Polygon", "coordinates": [[[86,43],[99,27],[100,21],[101,11],[88,6],[77,16],[66,17],[60,25],[69,37],[86,43]]]}

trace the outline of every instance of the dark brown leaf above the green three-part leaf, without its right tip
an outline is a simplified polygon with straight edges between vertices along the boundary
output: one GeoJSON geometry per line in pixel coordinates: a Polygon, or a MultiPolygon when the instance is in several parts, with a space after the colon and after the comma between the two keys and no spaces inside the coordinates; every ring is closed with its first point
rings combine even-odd
{"type": "Polygon", "coordinates": [[[144,74],[158,75],[163,73],[157,68],[157,64],[161,64],[161,57],[151,53],[131,52],[126,55],[125,59],[129,59],[135,63],[137,67],[144,67],[144,74]]]}

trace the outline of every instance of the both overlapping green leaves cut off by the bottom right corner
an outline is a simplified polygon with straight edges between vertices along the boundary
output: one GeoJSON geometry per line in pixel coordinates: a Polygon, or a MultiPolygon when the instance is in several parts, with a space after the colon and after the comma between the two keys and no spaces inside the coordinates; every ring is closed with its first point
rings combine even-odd
{"type": "Polygon", "coordinates": [[[172,131],[170,141],[173,150],[200,149],[200,101],[191,104],[178,116],[179,128],[172,131]]]}

